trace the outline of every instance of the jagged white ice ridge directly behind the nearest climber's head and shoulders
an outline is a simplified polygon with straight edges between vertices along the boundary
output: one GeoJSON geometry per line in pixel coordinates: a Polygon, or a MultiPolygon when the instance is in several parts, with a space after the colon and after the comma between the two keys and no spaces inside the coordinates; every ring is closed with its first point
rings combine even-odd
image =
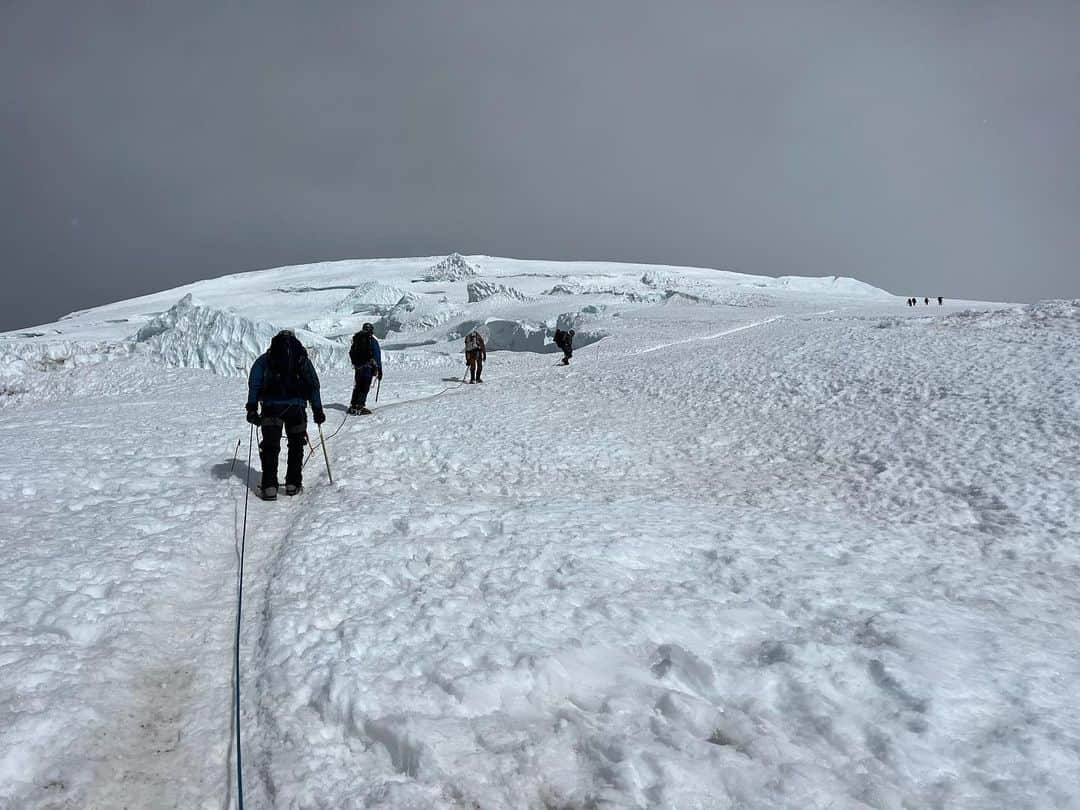
{"type": "MultiPolygon", "coordinates": [[[[131,340],[173,368],[204,368],[225,377],[242,377],[278,332],[274,324],[207,307],[189,293],[131,340]]],[[[296,336],[316,367],[343,364],[343,347],[302,330],[296,336]]]]}

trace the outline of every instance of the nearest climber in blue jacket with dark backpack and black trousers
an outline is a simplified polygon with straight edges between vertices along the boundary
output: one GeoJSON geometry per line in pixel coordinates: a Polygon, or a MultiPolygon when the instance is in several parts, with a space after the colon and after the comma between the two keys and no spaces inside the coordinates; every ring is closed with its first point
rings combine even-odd
{"type": "Polygon", "coordinates": [[[288,436],[285,495],[297,495],[303,489],[303,445],[308,435],[305,408],[309,402],[315,424],[325,422],[319,375],[311,365],[308,350],[289,329],[282,329],[274,335],[267,352],[256,359],[247,377],[247,421],[262,429],[259,442],[262,465],[259,497],[262,500],[272,501],[278,497],[282,430],[288,436]],[[259,403],[262,403],[261,414],[259,403]]]}

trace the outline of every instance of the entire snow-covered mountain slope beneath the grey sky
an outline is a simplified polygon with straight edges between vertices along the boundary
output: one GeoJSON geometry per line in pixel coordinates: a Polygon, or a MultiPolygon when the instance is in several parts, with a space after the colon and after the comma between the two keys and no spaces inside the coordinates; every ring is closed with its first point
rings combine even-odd
{"type": "Polygon", "coordinates": [[[335,482],[248,503],[249,806],[1080,806],[1080,302],[459,258],[2,336],[0,807],[230,806],[237,375],[284,326],[335,482]]]}

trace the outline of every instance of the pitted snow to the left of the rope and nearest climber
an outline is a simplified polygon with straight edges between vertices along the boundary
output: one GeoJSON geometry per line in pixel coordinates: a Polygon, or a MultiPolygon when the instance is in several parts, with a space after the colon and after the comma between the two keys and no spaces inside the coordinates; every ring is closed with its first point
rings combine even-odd
{"type": "MultiPolygon", "coordinates": [[[[114,382],[84,370],[86,392],[114,382]]],[[[154,375],[137,399],[87,393],[0,422],[2,807],[220,806],[207,762],[228,756],[234,509],[199,497],[221,486],[222,448],[195,403],[227,387],[154,375]]]]}

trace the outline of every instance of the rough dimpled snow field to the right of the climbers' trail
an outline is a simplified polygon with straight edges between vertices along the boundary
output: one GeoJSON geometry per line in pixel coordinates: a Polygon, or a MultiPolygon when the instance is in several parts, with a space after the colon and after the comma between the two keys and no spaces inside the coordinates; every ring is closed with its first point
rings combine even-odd
{"type": "MultiPolygon", "coordinates": [[[[1077,559],[1053,522],[1075,485],[1059,472],[1058,499],[1032,500],[1017,474],[1059,469],[1067,414],[997,413],[1034,392],[1002,390],[985,342],[876,323],[492,369],[435,409],[350,422],[364,449],[335,450],[269,599],[260,770],[291,774],[269,795],[1071,801],[1077,559]]],[[[1043,350],[1011,361],[1063,382],[1043,350]]]]}

